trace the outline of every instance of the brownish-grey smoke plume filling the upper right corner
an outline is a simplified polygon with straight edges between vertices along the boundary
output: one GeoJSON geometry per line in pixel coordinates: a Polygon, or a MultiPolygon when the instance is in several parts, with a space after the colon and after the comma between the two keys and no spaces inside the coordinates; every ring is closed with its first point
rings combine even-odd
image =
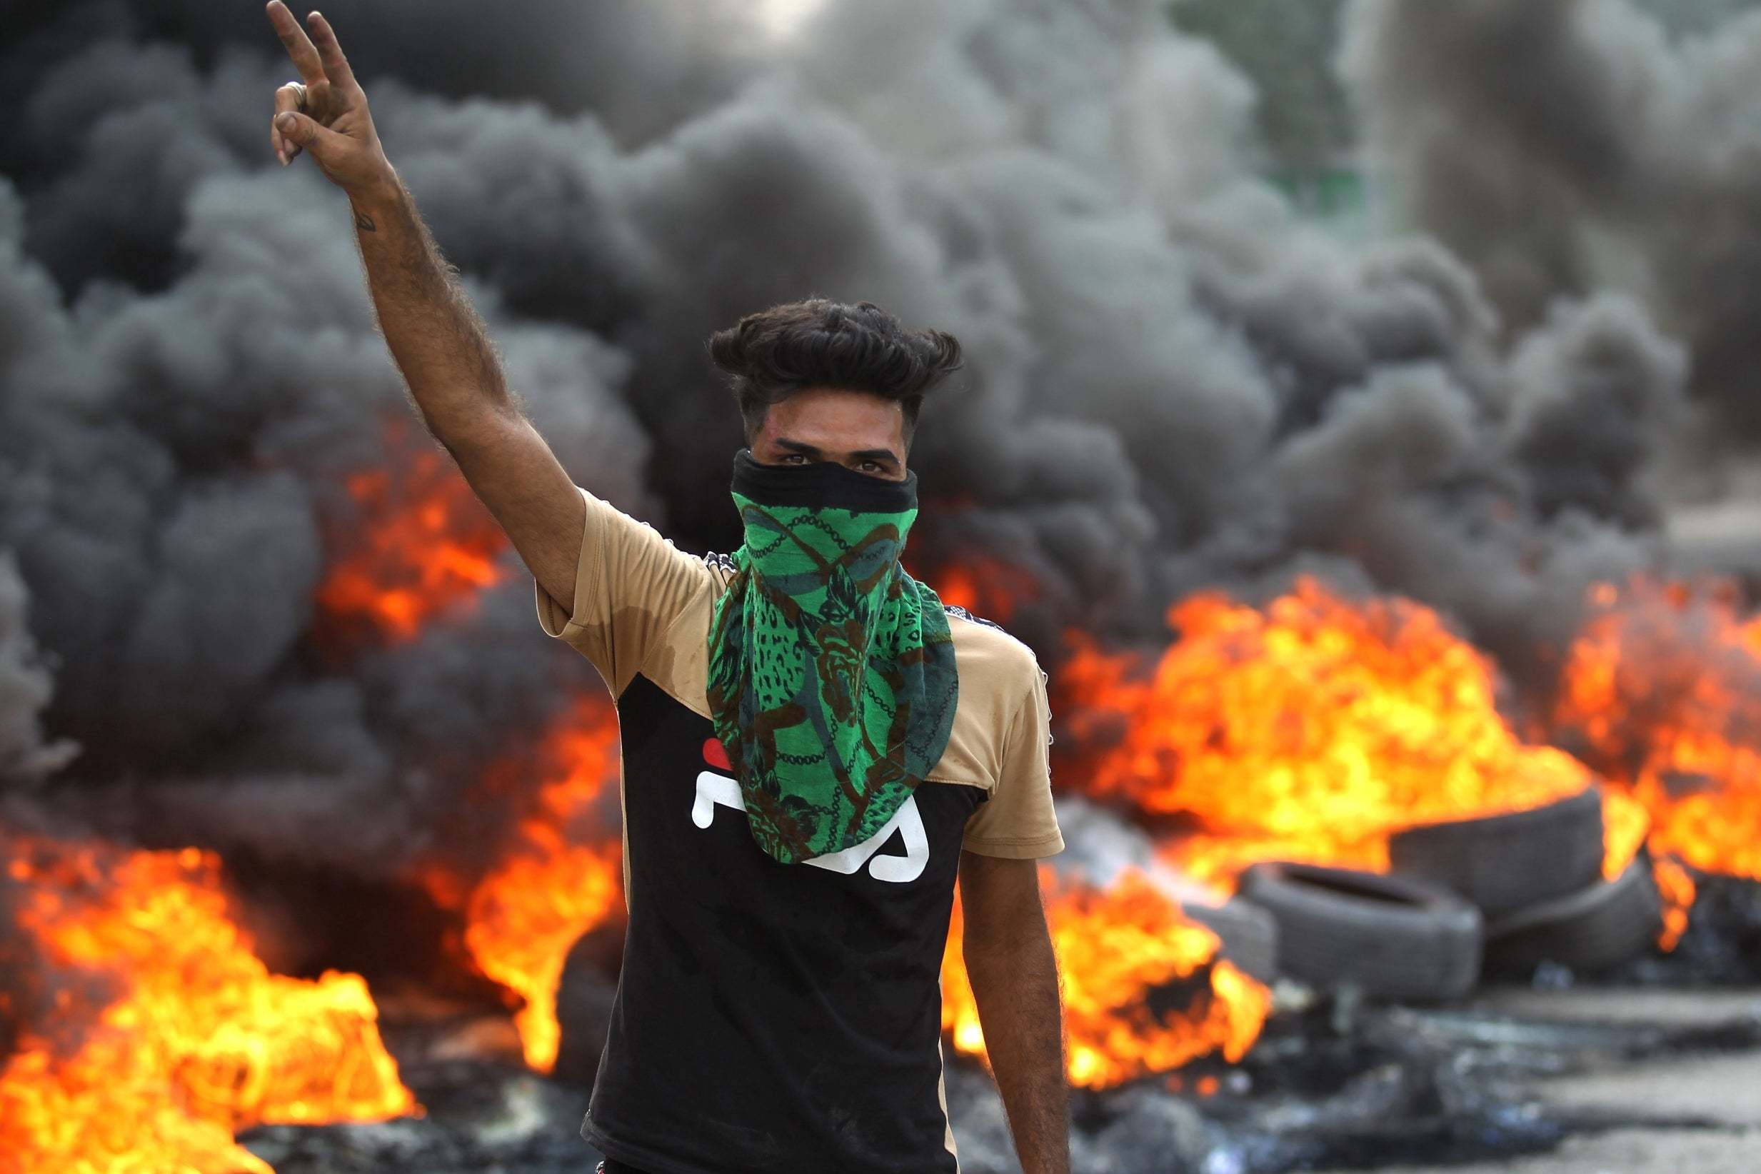
{"type": "Polygon", "coordinates": [[[1694,356],[1715,442],[1761,431],[1761,12],[1673,39],[1627,0],[1356,0],[1342,69],[1396,206],[1514,327],[1641,294],[1694,356]]]}

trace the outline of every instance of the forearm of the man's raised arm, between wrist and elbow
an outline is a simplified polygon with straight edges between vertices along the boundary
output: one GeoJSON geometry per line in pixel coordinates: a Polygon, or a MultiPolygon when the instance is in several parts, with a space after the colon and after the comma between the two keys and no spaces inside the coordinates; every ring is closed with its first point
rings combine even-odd
{"type": "Polygon", "coordinates": [[[428,429],[458,452],[486,410],[516,410],[488,329],[389,164],[349,208],[386,347],[428,429]]]}

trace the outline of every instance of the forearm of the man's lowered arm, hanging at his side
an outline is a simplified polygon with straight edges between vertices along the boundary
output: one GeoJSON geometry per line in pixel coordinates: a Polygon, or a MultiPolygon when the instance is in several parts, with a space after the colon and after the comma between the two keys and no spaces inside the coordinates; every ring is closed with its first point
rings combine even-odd
{"type": "Polygon", "coordinates": [[[963,942],[997,1090],[1025,1174],[1069,1174],[1064,1014],[1051,940],[1039,933],[963,942]]]}

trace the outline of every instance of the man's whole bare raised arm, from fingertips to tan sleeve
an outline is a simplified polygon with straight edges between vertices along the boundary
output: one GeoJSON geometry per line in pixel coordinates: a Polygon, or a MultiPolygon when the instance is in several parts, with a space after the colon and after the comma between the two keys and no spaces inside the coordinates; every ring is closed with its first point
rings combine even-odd
{"type": "Polygon", "coordinates": [[[380,148],[336,32],[312,12],[306,37],[282,0],[269,0],[268,14],[305,86],[303,95],[296,83],[275,92],[269,141],[276,158],[287,165],[303,150],[347,194],[379,329],[423,422],[539,586],[572,609],[581,493],[509,391],[458,271],[440,255],[380,148]]]}

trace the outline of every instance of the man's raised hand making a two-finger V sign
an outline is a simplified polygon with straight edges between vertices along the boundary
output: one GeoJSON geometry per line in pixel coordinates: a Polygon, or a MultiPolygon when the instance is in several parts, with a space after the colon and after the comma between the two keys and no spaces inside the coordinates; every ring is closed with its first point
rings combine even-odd
{"type": "Polygon", "coordinates": [[[382,187],[391,176],[391,164],[373,130],[366,92],[336,42],[336,30],[322,14],[312,12],[306,16],[312,37],[306,37],[282,0],[269,0],[266,11],[305,84],[303,95],[299,83],[275,92],[269,125],[275,157],[285,167],[301,150],[310,151],[324,178],[349,194],[382,187]]]}

